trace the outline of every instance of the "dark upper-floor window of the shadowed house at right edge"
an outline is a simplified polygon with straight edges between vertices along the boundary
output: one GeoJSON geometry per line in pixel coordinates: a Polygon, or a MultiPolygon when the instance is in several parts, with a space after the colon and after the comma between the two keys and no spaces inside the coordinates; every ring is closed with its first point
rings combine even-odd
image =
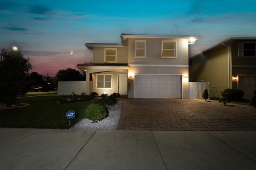
{"type": "Polygon", "coordinates": [[[256,57],[255,42],[239,42],[238,57],[256,57]]]}

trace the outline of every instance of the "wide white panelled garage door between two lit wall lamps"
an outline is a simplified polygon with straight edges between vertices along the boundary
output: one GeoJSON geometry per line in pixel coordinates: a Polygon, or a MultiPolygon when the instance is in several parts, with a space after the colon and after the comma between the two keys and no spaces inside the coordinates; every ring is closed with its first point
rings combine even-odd
{"type": "Polygon", "coordinates": [[[180,75],[135,75],[135,98],[181,98],[180,75]]]}

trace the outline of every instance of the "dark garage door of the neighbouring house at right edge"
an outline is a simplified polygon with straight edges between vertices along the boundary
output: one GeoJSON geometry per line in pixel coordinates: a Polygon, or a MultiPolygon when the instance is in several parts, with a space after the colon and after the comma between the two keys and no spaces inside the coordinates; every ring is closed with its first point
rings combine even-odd
{"type": "Polygon", "coordinates": [[[244,91],[244,99],[252,99],[253,92],[256,89],[256,76],[239,76],[238,89],[244,91]]]}

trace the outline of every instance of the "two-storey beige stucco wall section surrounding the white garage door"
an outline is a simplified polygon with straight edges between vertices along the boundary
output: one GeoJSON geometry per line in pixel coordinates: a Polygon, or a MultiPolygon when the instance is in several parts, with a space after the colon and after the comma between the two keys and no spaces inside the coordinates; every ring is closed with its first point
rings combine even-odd
{"type": "Polygon", "coordinates": [[[129,38],[128,39],[128,98],[134,98],[134,75],[182,75],[182,98],[188,99],[188,40],[160,38],[129,38]],[[146,58],[135,58],[135,40],[146,40],[146,58]],[[162,40],[176,41],[176,58],[162,58],[162,40]],[[150,65],[150,66],[147,66],[150,65]],[[169,66],[165,66],[169,65],[169,66]],[[180,67],[182,65],[182,67],[180,67]],[[177,67],[179,66],[179,67],[177,67]]]}

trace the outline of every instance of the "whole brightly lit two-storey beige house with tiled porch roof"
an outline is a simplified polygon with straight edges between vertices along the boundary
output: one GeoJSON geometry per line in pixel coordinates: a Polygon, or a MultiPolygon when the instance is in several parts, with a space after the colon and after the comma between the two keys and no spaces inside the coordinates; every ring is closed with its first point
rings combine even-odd
{"type": "Polygon", "coordinates": [[[121,34],[121,44],[86,43],[86,94],[188,99],[188,44],[199,37],[121,34]],[[186,78],[185,78],[186,77],[186,78]]]}

